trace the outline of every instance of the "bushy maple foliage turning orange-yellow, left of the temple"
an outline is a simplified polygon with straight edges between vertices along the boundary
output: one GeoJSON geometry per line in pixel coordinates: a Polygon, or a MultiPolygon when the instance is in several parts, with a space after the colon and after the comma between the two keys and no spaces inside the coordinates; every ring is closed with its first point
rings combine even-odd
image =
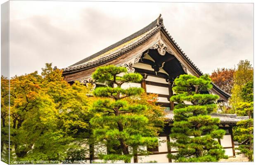
{"type": "MultiPolygon", "coordinates": [[[[65,160],[70,158],[67,151],[71,154],[73,148],[81,148],[88,137],[92,114],[86,94],[90,88],[79,82],[70,85],[51,64],[42,71],[41,75],[33,72],[10,80],[12,160],[65,160]]],[[[2,107],[7,107],[2,94],[2,107]]]]}

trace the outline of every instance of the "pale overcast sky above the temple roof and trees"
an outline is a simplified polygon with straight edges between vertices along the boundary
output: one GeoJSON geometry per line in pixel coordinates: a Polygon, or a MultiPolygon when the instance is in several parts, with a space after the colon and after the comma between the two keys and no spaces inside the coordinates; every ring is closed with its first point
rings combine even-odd
{"type": "Polygon", "coordinates": [[[64,68],[127,37],[162,14],[203,73],[253,63],[253,4],[10,1],[10,76],[64,68]]]}

